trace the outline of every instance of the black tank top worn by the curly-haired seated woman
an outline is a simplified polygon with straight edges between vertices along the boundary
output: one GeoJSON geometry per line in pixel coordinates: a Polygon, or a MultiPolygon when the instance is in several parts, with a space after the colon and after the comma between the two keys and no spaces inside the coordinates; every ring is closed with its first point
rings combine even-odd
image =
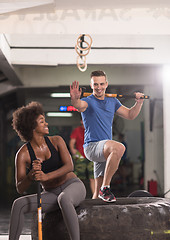
{"type": "MultiPolygon", "coordinates": [[[[50,139],[48,137],[44,137],[45,142],[50,150],[51,153],[51,157],[49,159],[46,159],[42,162],[42,171],[44,173],[49,173],[52,171],[55,171],[57,169],[59,169],[63,164],[61,161],[61,157],[60,157],[60,153],[56,150],[56,148],[53,146],[53,144],[51,143],[50,139]]],[[[28,142],[27,144],[27,148],[30,154],[30,158],[31,158],[31,166],[30,169],[32,168],[32,162],[37,159],[34,153],[34,150],[30,144],[30,142],[28,142]]]]}

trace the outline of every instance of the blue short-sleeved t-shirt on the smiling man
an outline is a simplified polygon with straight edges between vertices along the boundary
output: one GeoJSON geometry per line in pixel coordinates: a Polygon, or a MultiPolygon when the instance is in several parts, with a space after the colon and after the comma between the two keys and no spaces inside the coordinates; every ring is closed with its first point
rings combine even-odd
{"type": "Polygon", "coordinates": [[[85,127],[84,148],[90,142],[111,140],[114,114],[122,106],[120,101],[109,97],[99,100],[93,94],[81,100],[88,103],[87,109],[81,113],[85,127]]]}

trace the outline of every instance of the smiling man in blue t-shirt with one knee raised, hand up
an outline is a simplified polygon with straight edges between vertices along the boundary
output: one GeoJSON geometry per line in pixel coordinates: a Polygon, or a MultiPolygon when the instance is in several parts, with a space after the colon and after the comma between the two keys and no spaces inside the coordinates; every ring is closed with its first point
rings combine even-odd
{"type": "Polygon", "coordinates": [[[74,81],[70,86],[72,105],[81,112],[85,127],[84,153],[94,162],[95,192],[93,199],[101,198],[106,202],[116,201],[110,191],[110,182],[118,169],[119,162],[125,151],[122,143],[112,140],[112,123],[114,114],[133,120],[143,105],[143,93],[136,94],[136,103],[127,108],[117,98],[105,97],[108,87],[107,76],[103,71],[91,73],[90,86],[92,95],[82,98],[79,82],[74,81]]]}

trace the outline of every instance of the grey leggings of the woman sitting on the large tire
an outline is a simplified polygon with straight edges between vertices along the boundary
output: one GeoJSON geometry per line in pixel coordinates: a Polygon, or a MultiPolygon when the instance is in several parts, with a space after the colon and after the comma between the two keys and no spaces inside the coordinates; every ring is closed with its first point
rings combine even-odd
{"type": "MultiPolygon", "coordinates": [[[[80,240],[79,222],[75,207],[85,199],[86,189],[79,178],[41,193],[42,212],[61,209],[71,240],[80,240]]],[[[11,210],[9,240],[18,240],[24,225],[24,214],[37,211],[37,194],[16,199],[11,210]]]]}

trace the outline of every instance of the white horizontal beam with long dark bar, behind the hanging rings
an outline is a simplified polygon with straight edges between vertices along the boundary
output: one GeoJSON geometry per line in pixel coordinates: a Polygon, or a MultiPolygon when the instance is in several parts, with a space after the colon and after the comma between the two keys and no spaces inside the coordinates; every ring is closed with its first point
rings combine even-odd
{"type": "MultiPolygon", "coordinates": [[[[1,37],[5,46],[3,52],[14,66],[76,64],[78,57],[74,49],[76,35],[4,34],[1,37]]],[[[91,50],[86,56],[88,64],[170,62],[170,36],[167,35],[91,35],[91,37],[93,39],[91,50]]],[[[85,41],[90,42],[86,36],[85,41]]]]}

